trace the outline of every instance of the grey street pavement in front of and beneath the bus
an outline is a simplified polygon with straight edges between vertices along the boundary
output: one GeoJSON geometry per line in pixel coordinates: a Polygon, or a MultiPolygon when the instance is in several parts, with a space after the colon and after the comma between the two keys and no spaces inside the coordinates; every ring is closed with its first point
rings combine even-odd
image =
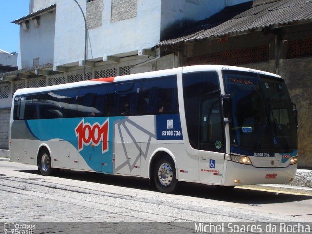
{"type": "Polygon", "coordinates": [[[225,224],[229,232],[227,225],[236,222],[266,226],[312,222],[311,207],[311,195],[242,188],[219,191],[214,186],[186,183],[175,194],[163,194],[146,179],[78,171],[41,176],[36,166],[0,161],[0,222],[73,222],[80,231],[85,222],[119,225],[109,225],[107,233],[132,233],[130,224],[143,228],[144,233],[164,229],[164,233],[190,233],[194,224],[221,222],[217,224],[225,224]],[[124,222],[129,223],[124,226],[124,222]]]}

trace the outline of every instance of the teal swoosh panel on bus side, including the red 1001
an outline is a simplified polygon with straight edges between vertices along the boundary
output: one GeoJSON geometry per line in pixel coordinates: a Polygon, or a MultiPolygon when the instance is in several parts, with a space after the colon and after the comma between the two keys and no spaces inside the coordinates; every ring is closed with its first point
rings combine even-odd
{"type": "Polygon", "coordinates": [[[27,120],[26,124],[34,137],[41,141],[60,139],[61,136],[61,140],[77,149],[92,170],[113,173],[114,122],[124,118],[41,119],[27,120]]]}

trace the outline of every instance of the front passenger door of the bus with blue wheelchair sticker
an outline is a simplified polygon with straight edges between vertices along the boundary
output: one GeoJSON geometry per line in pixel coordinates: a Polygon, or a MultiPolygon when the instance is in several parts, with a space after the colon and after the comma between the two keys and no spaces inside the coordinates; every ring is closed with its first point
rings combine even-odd
{"type": "Polygon", "coordinates": [[[200,105],[199,180],[201,183],[220,184],[225,149],[220,92],[205,95],[200,105]]]}

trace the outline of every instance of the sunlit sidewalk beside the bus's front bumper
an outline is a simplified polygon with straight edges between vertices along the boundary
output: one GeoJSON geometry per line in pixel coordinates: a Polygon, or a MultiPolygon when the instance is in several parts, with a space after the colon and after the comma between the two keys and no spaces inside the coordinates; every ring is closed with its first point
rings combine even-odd
{"type": "MultiPolygon", "coordinates": [[[[10,158],[0,157],[0,161],[9,162],[10,158]]],[[[312,170],[298,169],[294,180],[290,184],[257,184],[237,187],[312,195],[312,170]]]]}

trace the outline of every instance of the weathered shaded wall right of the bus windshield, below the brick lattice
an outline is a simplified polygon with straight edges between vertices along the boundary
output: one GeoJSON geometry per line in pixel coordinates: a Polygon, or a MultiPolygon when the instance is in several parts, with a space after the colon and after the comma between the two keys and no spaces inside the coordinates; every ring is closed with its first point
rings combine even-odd
{"type": "MultiPolygon", "coordinates": [[[[280,59],[279,62],[279,75],[285,79],[292,102],[298,109],[298,166],[312,168],[312,57],[280,59]]],[[[274,60],[242,66],[275,73],[274,60]]]]}

